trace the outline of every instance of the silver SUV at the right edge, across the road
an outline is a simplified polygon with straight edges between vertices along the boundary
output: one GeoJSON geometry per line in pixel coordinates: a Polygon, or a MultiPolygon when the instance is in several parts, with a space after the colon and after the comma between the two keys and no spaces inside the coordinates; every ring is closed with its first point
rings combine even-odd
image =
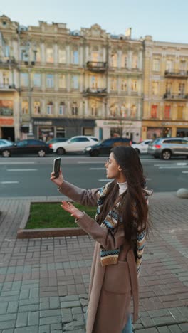
{"type": "Polygon", "coordinates": [[[172,156],[188,158],[188,140],[181,137],[163,137],[155,139],[148,145],[148,154],[156,159],[170,159],[172,156]]]}

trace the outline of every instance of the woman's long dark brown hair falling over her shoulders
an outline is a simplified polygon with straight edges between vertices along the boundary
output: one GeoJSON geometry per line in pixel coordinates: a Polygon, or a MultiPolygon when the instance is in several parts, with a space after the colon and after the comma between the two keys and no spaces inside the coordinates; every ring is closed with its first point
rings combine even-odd
{"type": "Polygon", "coordinates": [[[136,238],[137,231],[145,231],[148,234],[149,230],[147,201],[142,191],[146,184],[142,164],[137,152],[132,147],[117,146],[111,152],[125,175],[127,191],[119,196],[117,181],[112,182],[98,216],[98,223],[102,223],[108,212],[113,210],[119,202],[117,207],[118,225],[122,221],[125,238],[132,243],[132,240],[136,238]]]}

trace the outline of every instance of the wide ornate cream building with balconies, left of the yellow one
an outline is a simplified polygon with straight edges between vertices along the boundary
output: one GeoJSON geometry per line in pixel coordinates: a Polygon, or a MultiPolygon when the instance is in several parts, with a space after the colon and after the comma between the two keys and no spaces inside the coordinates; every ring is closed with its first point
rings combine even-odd
{"type": "Polygon", "coordinates": [[[7,16],[0,31],[1,137],[120,134],[139,141],[141,40],[97,24],[80,31],[43,21],[24,27],[7,16]]]}

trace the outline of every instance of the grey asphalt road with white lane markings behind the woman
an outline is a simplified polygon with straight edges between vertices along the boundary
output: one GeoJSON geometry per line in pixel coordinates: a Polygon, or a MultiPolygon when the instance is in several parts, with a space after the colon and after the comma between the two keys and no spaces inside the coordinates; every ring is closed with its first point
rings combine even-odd
{"type": "MultiPolygon", "coordinates": [[[[57,196],[56,186],[49,180],[55,157],[0,157],[0,196],[57,196]]],[[[107,158],[63,156],[63,176],[67,181],[86,189],[103,186],[108,181],[104,167],[107,158]]],[[[155,192],[188,188],[187,159],[163,161],[147,155],[141,155],[140,158],[148,186],[155,192]]]]}

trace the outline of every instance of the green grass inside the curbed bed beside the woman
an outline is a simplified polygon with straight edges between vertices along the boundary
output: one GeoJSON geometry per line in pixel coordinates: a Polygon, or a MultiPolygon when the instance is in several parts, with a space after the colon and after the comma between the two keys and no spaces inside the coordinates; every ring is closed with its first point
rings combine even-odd
{"type": "MultiPolygon", "coordinates": [[[[80,211],[85,211],[90,217],[95,218],[96,207],[85,207],[78,203],[74,205],[80,211]]],[[[75,218],[67,211],[64,211],[60,203],[31,203],[26,229],[75,227],[78,227],[75,223],[75,218]]]]}

